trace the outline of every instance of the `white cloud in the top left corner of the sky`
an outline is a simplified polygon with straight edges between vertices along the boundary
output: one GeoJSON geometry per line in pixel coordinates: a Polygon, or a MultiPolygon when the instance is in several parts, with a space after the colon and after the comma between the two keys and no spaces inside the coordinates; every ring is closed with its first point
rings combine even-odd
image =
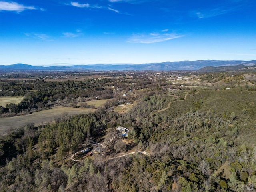
{"type": "Polygon", "coordinates": [[[22,12],[24,10],[34,10],[36,9],[34,6],[24,6],[22,4],[18,4],[16,2],[5,2],[0,1],[0,11],[16,11],[22,12]]]}

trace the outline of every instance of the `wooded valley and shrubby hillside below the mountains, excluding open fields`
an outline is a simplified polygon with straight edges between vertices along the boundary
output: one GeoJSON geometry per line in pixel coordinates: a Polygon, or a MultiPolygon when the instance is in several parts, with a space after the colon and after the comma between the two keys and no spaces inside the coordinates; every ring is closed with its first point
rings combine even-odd
{"type": "Polygon", "coordinates": [[[47,124],[6,130],[0,191],[256,190],[256,81],[246,78],[253,72],[67,75],[74,76],[1,76],[0,96],[24,97],[0,106],[2,118],[109,100],[89,106],[96,110],[88,114],[67,111],[47,124]],[[134,105],[117,111],[128,103],[134,105]],[[127,137],[118,126],[129,130],[127,137]],[[85,148],[92,156],[82,153],[85,148]]]}

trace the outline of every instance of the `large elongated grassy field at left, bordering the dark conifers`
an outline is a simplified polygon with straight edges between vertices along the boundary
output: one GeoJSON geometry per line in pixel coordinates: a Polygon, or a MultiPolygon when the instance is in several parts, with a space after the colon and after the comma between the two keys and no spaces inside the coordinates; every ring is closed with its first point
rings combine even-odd
{"type": "Polygon", "coordinates": [[[94,109],[72,108],[72,107],[54,107],[47,110],[34,112],[24,116],[0,118],[0,134],[4,134],[9,128],[19,128],[28,123],[34,123],[35,126],[53,122],[54,118],[60,116],[63,112],[68,112],[70,116],[75,114],[94,112],[94,109]]]}

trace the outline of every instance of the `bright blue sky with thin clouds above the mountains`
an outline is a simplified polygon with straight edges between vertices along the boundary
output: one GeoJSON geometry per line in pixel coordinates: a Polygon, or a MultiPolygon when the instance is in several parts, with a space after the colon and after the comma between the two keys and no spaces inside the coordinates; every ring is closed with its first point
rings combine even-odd
{"type": "Polygon", "coordinates": [[[255,0],[0,0],[0,65],[255,60],[255,0]]]}

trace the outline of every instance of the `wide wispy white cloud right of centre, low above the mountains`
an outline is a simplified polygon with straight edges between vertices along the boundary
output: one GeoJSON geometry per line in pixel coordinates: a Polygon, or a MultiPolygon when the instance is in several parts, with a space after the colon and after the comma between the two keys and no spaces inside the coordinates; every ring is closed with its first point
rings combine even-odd
{"type": "Polygon", "coordinates": [[[176,34],[176,33],[163,33],[166,30],[161,32],[152,32],[149,34],[133,34],[132,37],[128,39],[129,43],[157,43],[163,42],[171,39],[181,38],[185,35],[176,34]]]}

